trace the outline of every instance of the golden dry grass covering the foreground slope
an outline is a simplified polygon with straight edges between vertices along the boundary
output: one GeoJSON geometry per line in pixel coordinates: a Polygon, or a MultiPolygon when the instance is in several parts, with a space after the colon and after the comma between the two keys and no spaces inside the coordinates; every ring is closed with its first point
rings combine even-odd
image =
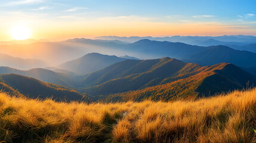
{"type": "Polygon", "coordinates": [[[84,104],[0,94],[3,142],[256,142],[256,89],[197,101],[84,104]]]}

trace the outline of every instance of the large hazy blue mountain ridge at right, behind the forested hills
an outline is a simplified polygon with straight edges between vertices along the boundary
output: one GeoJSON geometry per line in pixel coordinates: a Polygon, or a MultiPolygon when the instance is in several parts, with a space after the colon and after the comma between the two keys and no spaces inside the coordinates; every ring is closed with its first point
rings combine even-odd
{"type": "MultiPolygon", "coordinates": [[[[143,39],[123,47],[124,50],[155,58],[172,57],[189,63],[209,66],[219,63],[232,63],[242,68],[256,67],[256,54],[240,51],[227,46],[193,46],[186,43],[160,42],[143,39]]],[[[256,74],[256,73],[255,73],[256,74]]]]}

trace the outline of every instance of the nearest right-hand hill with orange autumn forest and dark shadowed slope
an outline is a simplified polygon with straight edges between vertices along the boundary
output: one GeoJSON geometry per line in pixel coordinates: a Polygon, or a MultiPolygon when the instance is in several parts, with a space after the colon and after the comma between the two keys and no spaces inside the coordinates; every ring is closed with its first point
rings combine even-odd
{"type": "Polygon", "coordinates": [[[104,101],[141,101],[193,99],[209,97],[221,92],[244,89],[254,86],[256,77],[239,69],[233,64],[217,64],[201,67],[196,72],[166,78],[162,85],[152,86],[137,91],[112,94],[104,101]]]}

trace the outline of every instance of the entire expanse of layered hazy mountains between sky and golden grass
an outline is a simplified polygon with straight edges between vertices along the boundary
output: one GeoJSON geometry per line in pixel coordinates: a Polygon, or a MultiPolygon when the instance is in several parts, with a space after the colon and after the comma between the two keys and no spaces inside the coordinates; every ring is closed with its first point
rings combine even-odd
{"type": "Polygon", "coordinates": [[[256,83],[254,36],[101,38],[0,45],[1,86],[33,98],[169,101],[256,83]]]}

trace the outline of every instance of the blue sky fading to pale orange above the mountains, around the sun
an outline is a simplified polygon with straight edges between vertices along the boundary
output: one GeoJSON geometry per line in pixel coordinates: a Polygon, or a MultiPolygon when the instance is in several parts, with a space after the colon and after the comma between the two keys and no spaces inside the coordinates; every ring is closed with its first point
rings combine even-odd
{"type": "Polygon", "coordinates": [[[26,26],[33,39],[255,35],[255,0],[0,0],[0,41],[26,26]]]}

